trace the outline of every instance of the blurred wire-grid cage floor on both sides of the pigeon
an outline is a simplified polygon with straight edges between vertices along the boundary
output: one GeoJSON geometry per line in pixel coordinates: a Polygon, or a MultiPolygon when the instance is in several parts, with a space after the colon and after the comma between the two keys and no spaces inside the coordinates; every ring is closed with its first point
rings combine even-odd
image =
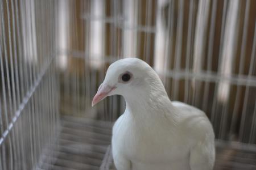
{"type": "MultiPolygon", "coordinates": [[[[51,170],[112,169],[110,141],[112,123],[92,121],[86,118],[61,117],[61,132],[57,146],[53,147],[55,160],[51,170]]],[[[256,169],[256,153],[253,151],[216,148],[214,170],[256,169]]],[[[44,165],[44,163],[43,163],[44,165]]],[[[45,169],[45,168],[39,168],[45,169]]]]}

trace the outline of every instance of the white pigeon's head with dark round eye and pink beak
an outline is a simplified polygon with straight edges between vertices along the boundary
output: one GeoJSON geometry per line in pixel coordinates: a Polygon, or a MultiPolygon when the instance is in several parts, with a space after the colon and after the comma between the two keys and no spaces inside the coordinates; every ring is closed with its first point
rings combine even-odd
{"type": "Polygon", "coordinates": [[[159,76],[146,62],[138,58],[119,59],[109,66],[92,106],[106,96],[122,95],[125,99],[142,96],[150,91],[152,85],[158,84],[163,88],[159,76]]]}

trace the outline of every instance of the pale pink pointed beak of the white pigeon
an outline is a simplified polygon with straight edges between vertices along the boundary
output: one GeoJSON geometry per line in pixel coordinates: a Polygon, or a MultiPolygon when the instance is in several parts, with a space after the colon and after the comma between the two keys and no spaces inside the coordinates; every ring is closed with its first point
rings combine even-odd
{"type": "Polygon", "coordinates": [[[108,84],[101,84],[98,88],[97,94],[93,97],[92,107],[104,99],[108,94],[117,87],[109,86],[108,84]]]}

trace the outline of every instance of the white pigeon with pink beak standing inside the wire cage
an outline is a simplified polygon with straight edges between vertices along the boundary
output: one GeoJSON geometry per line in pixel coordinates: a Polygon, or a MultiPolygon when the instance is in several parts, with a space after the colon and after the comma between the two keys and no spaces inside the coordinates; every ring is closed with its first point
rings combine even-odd
{"type": "Polygon", "coordinates": [[[168,98],[155,71],[138,58],[120,59],[94,96],[122,95],[125,112],[113,127],[112,153],[118,170],[210,170],[214,133],[203,111],[168,98]]]}

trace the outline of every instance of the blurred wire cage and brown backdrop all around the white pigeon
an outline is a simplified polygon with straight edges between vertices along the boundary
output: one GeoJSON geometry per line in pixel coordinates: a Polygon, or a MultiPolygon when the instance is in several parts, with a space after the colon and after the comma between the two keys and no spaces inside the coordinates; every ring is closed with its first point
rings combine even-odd
{"type": "Polygon", "coordinates": [[[91,107],[108,66],[138,57],[202,109],[214,169],[256,169],[256,1],[0,0],[0,169],[113,169],[121,96],[91,107]]]}

